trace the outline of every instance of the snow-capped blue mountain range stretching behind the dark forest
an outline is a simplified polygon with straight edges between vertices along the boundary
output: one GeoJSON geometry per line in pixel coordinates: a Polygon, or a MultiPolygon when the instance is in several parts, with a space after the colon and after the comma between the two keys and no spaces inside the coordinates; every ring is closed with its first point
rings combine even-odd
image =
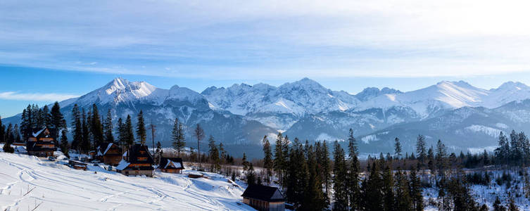
{"type": "MultiPolygon", "coordinates": [[[[293,138],[333,141],[344,139],[353,128],[362,143],[360,150],[373,153],[391,151],[396,136],[412,151],[417,134],[426,135],[427,141],[443,139],[455,151],[493,146],[500,131],[530,129],[530,101],[525,101],[529,98],[530,87],[519,82],[486,90],[463,81],[443,81],[416,91],[369,87],[350,94],[304,78],[279,87],[234,84],[198,93],[116,78],[60,104],[67,120],[75,103],[86,110],[96,103],[101,113],[111,109],[115,121],[143,110],[147,123],[157,125],[156,139],[164,146],[170,146],[177,117],[187,125],[188,134],[201,124],[207,135],[233,151],[255,148],[264,135],[275,139],[279,131],[293,138]]],[[[15,116],[4,121],[19,120],[15,116]]],[[[196,143],[191,135],[187,140],[196,143]]]]}

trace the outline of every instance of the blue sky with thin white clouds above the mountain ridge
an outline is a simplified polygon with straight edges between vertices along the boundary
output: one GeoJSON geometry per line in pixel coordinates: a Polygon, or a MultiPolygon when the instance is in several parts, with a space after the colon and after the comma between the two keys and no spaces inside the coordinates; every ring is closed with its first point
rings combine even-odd
{"type": "Polygon", "coordinates": [[[1,1],[0,115],[114,77],[202,91],[530,84],[526,1],[1,1]]]}

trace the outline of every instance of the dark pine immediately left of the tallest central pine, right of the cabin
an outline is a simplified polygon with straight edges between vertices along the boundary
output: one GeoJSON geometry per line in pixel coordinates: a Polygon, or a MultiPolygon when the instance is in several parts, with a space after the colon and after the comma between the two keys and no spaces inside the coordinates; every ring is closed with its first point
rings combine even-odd
{"type": "Polygon", "coordinates": [[[348,188],[346,188],[346,158],[344,150],[335,141],[334,146],[334,165],[333,165],[333,189],[334,189],[334,207],[333,210],[348,210],[348,188]]]}

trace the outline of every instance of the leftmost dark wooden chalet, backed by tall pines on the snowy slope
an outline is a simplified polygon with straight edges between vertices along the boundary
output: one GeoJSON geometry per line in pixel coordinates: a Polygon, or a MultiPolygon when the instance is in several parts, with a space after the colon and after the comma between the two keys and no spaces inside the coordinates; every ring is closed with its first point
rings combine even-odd
{"type": "Polygon", "coordinates": [[[51,137],[49,129],[44,127],[38,132],[33,132],[32,136],[26,141],[26,151],[28,155],[40,157],[53,156],[57,150],[55,140],[51,137]]]}

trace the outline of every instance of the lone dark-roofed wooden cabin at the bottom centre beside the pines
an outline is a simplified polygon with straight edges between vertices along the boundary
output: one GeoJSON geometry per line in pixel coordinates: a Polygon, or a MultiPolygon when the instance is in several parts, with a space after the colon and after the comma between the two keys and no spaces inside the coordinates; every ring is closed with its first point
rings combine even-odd
{"type": "Polygon", "coordinates": [[[284,211],[285,196],[278,188],[263,186],[259,184],[251,185],[243,193],[243,203],[254,207],[260,211],[284,211]]]}

